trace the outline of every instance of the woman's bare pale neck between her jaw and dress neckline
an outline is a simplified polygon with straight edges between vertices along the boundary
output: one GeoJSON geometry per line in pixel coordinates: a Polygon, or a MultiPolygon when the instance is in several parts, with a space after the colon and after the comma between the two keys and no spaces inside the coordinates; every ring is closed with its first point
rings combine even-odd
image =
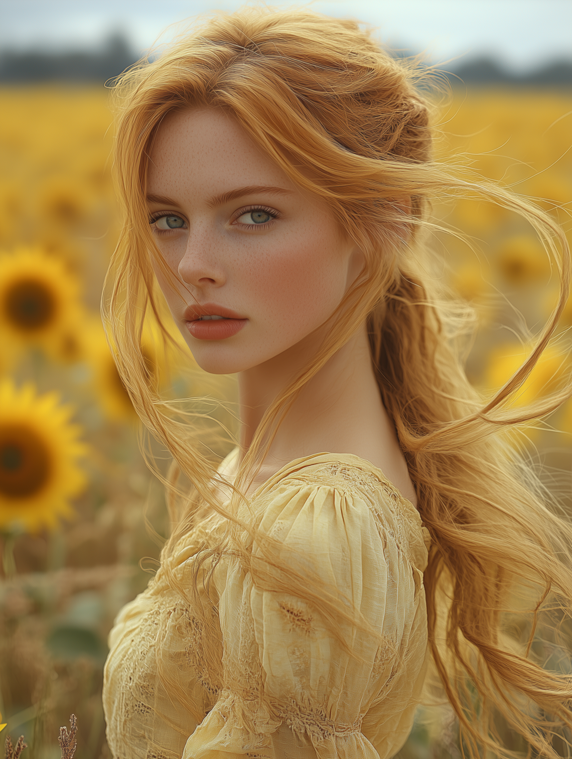
{"type": "MultiPolygon", "coordinates": [[[[264,412],[311,362],[319,345],[318,339],[314,344],[307,340],[239,373],[242,451],[251,445],[264,412]]],[[[365,324],[302,387],[253,473],[247,494],[296,458],[317,453],[349,453],[370,461],[416,504],[395,428],[381,402],[365,324]]]]}

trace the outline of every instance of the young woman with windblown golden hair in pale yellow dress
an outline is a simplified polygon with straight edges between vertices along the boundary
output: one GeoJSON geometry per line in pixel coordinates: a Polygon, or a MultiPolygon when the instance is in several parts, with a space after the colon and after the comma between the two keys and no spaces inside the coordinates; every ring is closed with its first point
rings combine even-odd
{"type": "Polygon", "coordinates": [[[509,641],[501,616],[536,623],[550,591],[569,613],[572,531],[495,435],[569,394],[509,408],[564,307],[569,251],[535,206],[431,162],[415,79],[353,22],[256,9],[119,82],[106,317],[192,488],[167,483],[160,569],[110,636],[114,757],[384,759],[429,663],[473,757],[503,752],[495,708],[546,756],[545,714],[572,725],[570,678],[532,660],[532,623],[509,641]],[[438,194],[523,214],[561,266],[536,351],[487,405],[428,266],[438,194]],[[239,445],[218,471],[150,382],[157,285],[199,366],[238,376],[239,445]]]}

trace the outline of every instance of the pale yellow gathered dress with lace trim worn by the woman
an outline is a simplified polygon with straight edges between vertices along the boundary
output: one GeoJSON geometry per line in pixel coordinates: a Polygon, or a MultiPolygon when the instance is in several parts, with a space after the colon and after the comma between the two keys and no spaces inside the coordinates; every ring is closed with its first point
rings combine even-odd
{"type": "MultiPolygon", "coordinates": [[[[324,584],[351,598],[387,645],[354,629],[346,643],[362,661],[349,656],[337,622],[256,587],[232,557],[214,587],[198,583],[217,599],[207,634],[160,568],[109,635],[103,705],[114,759],[386,759],[406,741],[428,663],[419,512],[368,461],[331,453],[290,462],[251,505],[264,533],[313,557],[324,584]]],[[[183,584],[205,534],[189,534],[172,559],[183,584]]]]}

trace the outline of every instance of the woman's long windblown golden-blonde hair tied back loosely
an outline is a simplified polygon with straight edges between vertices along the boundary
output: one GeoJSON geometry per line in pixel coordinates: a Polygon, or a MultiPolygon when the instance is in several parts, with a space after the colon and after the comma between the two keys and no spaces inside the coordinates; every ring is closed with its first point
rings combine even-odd
{"type": "MultiPolygon", "coordinates": [[[[516,411],[511,405],[567,301],[570,250],[558,225],[533,203],[458,162],[432,158],[430,109],[417,86],[420,78],[416,65],[391,58],[353,21],[264,8],[207,18],[155,61],[123,74],[115,84],[115,174],[125,222],[103,313],[138,414],[192,483],[191,496],[179,489],[184,502],[163,549],[166,572],[177,543],[216,512],[226,517],[226,531],[215,546],[204,545],[202,562],[213,565],[234,552],[261,584],[268,578],[266,564],[275,584],[278,570],[283,588],[317,606],[326,619],[345,614],[336,594],[292,566],[277,566],[272,540],[239,516],[237,504],[245,502],[248,477],[299,390],[367,321],[381,397],[431,533],[425,571],[429,642],[466,750],[476,757],[479,747],[488,746],[508,755],[495,737],[496,709],[536,751],[555,757],[548,735],[554,723],[545,715],[572,727],[572,682],[535,663],[530,648],[547,603],[563,616],[570,613],[572,530],[547,508],[548,494],[498,430],[548,414],[570,395],[563,387],[532,407],[516,411]],[[164,116],[189,106],[232,115],[292,181],[327,201],[366,261],[364,276],[331,317],[337,328],[274,400],[233,484],[216,474],[217,462],[188,417],[177,417],[157,395],[141,351],[146,314],[153,313],[169,339],[152,263],[172,278],[148,223],[150,147],[164,116]],[[463,370],[458,304],[428,276],[427,232],[435,228],[430,202],[450,196],[484,198],[523,216],[561,275],[558,304],[535,350],[486,403],[463,370]],[[409,214],[403,213],[403,198],[411,198],[409,214]],[[230,505],[220,503],[213,480],[232,492],[230,505]],[[256,565],[239,540],[245,530],[261,546],[264,560],[256,565]],[[535,599],[529,641],[516,650],[506,644],[503,620],[510,609],[518,611],[515,597],[526,599],[527,593],[535,599]]],[[[169,487],[176,490],[174,480],[169,487]]],[[[194,597],[196,588],[180,587],[172,572],[169,578],[181,594],[194,597]]],[[[207,630],[211,610],[198,613],[207,630]]],[[[359,614],[346,616],[365,625],[359,614]]],[[[216,675],[216,661],[207,666],[216,675]]]]}

